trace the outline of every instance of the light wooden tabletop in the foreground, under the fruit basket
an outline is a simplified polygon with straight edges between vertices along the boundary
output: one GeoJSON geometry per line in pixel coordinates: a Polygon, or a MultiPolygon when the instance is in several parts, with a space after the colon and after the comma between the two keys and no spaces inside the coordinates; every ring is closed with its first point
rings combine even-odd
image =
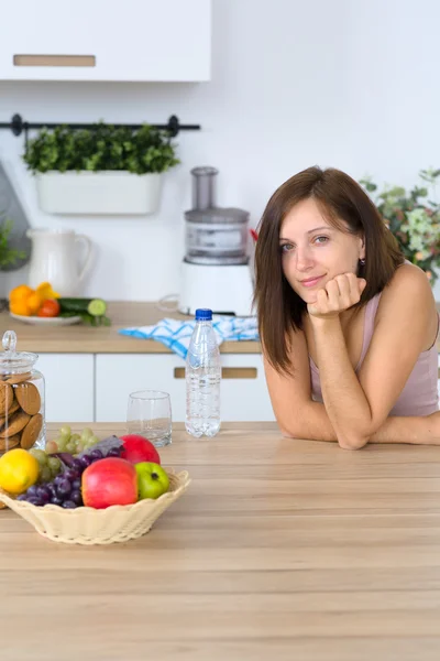
{"type": "Polygon", "coordinates": [[[439,659],[440,447],[231,423],[176,425],[161,455],[193,483],[140,540],[57,544],[0,512],[1,661],[439,659]]]}

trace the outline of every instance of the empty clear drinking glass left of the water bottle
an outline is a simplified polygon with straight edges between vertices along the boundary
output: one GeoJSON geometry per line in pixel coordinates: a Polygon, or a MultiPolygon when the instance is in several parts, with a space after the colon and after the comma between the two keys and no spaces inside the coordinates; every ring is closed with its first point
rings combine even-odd
{"type": "Polygon", "coordinates": [[[127,410],[129,434],[141,434],[156,447],[172,442],[172,403],[160,390],[138,390],[129,395],[127,410]]]}

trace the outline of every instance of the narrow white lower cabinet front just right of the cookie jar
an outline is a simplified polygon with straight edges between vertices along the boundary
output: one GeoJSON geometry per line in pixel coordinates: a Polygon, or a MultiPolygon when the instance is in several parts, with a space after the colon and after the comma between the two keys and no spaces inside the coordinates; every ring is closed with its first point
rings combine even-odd
{"type": "Polygon", "coordinates": [[[40,354],[35,369],[45,378],[46,422],[90,422],[95,419],[92,354],[40,354]]]}

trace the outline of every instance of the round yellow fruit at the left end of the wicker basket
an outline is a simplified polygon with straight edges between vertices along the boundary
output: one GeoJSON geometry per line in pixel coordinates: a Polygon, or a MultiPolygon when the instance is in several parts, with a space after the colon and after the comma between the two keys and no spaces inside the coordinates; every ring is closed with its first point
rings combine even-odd
{"type": "Polygon", "coordinates": [[[38,462],[28,451],[15,447],[0,457],[0,487],[18,496],[38,479],[38,462]]]}

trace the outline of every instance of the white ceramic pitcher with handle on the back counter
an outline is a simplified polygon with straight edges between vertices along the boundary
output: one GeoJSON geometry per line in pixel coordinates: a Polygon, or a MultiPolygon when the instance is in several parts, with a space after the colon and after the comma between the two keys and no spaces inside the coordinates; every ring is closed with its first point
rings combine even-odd
{"type": "Polygon", "coordinates": [[[80,295],[81,282],[91,266],[91,241],[70,229],[29,229],[32,252],[29,285],[35,289],[50,282],[62,296],[80,295]],[[86,248],[84,263],[78,264],[77,246],[86,248]]]}

